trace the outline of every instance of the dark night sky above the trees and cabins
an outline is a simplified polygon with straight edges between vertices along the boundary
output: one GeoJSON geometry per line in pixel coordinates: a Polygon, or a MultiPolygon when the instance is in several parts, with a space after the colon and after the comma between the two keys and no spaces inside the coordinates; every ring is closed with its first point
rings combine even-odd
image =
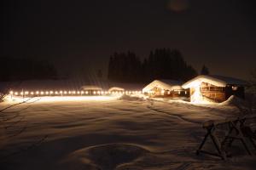
{"type": "Polygon", "coordinates": [[[256,67],[255,5],[253,0],[9,0],[1,5],[0,55],[50,59],[61,71],[105,71],[114,51],[131,50],[143,59],[154,48],[177,48],[197,70],[206,64],[212,74],[247,79],[256,67]]]}

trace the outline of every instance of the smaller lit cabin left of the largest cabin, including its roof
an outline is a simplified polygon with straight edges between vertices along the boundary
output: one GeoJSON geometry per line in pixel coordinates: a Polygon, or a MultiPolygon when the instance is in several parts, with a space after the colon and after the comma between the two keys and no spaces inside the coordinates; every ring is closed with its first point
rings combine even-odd
{"type": "Polygon", "coordinates": [[[143,94],[152,97],[179,97],[189,94],[188,91],[182,88],[182,82],[174,80],[154,80],[143,88],[143,94]]]}

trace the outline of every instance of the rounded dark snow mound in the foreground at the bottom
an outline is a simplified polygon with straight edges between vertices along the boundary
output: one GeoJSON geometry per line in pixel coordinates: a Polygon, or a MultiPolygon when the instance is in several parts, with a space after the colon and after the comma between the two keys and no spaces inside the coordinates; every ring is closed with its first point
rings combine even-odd
{"type": "Polygon", "coordinates": [[[102,144],[74,151],[62,163],[76,165],[75,169],[111,170],[136,160],[148,150],[134,144],[102,144]]]}

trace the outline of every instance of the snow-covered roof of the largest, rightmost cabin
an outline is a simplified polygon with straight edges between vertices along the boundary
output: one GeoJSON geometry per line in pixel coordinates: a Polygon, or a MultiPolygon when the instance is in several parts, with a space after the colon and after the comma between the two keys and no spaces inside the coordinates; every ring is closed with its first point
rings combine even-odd
{"type": "Polygon", "coordinates": [[[239,80],[233,77],[223,77],[223,76],[216,76],[216,75],[201,75],[198,77],[193,78],[189,82],[185,82],[183,84],[183,88],[191,88],[201,84],[201,82],[207,82],[214,86],[218,87],[226,87],[226,85],[245,85],[246,82],[243,80],[239,80]]]}

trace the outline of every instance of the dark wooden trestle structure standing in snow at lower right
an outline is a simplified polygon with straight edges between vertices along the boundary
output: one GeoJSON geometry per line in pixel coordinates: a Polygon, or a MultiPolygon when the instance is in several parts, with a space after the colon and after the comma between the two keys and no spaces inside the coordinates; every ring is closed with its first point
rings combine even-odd
{"type": "Polygon", "coordinates": [[[256,119],[255,115],[252,116],[243,116],[237,118],[224,119],[222,121],[207,121],[202,124],[202,127],[207,130],[207,134],[202,140],[199,149],[196,151],[196,154],[200,153],[219,156],[223,160],[226,160],[228,157],[228,150],[235,140],[239,140],[243,145],[244,149],[247,151],[248,155],[252,155],[252,152],[249,150],[246,138],[249,139],[249,142],[253,145],[256,150],[256,144],[253,140],[256,139],[256,132],[253,132],[252,128],[246,125],[247,120],[256,119]],[[217,135],[218,127],[225,126],[223,138],[220,138],[217,135]],[[207,150],[203,150],[203,146],[206,144],[207,139],[212,140],[214,148],[217,150],[216,153],[212,153],[207,150]]]}

